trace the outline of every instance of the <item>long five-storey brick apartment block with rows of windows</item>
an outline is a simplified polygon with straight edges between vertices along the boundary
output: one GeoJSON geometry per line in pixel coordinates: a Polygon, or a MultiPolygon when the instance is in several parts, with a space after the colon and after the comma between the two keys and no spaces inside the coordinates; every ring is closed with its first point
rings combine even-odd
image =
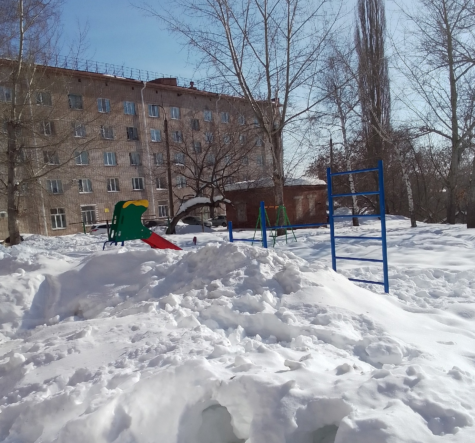
{"type": "MultiPolygon", "coordinates": [[[[0,89],[1,117],[9,106],[7,75],[0,75],[0,89]]],[[[267,143],[250,105],[239,97],[201,91],[193,84],[178,86],[175,78],[144,82],[57,67],[43,67],[29,92],[31,124],[23,137],[26,162],[36,179],[19,196],[22,233],[81,232],[83,222],[110,219],[114,204],[128,199],[148,199],[147,218],[167,217],[164,117],[175,212],[193,196],[191,181],[200,166],[233,161],[232,144],[234,152],[243,153],[238,160],[235,155],[238,166],[212,172],[213,180],[218,174],[227,183],[271,174],[267,143]]],[[[6,135],[0,134],[3,156],[5,143],[6,135]]],[[[1,175],[4,165],[0,160],[1,175]]],[[[6,211],[2,193],[1,211],[6,211]]],[[[7,235],[6,219],[0,218],[0,238],[7,235]]]]}

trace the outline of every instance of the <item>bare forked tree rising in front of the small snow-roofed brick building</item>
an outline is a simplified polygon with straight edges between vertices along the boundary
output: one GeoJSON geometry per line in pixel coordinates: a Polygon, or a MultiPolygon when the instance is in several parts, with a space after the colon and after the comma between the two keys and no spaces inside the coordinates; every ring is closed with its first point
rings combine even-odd
{"type": "Polygon", "coordinates": [[[282,133],[316,105],[314,76],[339,13],[330,6],[329,0],[173,0],[167,11],[142,4],[202,56],[210,77],[250,103],[270,146],[279,205],[282,133]]]}

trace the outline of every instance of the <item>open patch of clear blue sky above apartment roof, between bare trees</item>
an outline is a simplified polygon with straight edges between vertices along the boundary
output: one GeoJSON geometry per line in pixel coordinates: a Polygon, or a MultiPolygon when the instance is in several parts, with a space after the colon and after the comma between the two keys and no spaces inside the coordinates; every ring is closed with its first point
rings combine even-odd
{"type": "Polygon", "coordinates": [[[90,26],[89,48],[81,58],[197,78],[194,67],[187,63],[188,52],[176,38],[157,19],[130,6],[130,0],[67,0],[63,8],[65,47],[77,35],[78,22],[90,26]]]}

